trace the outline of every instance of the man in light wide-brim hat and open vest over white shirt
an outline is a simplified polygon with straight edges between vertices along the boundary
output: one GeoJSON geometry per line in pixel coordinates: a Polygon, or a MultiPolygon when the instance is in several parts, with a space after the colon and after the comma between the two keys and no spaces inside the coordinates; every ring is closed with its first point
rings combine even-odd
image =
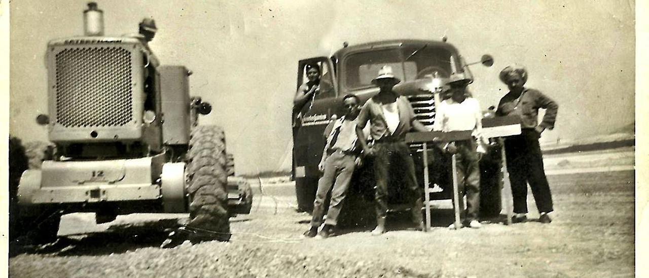
{"type": "Polygon", "coordinates": [[[400,80],[392,72],[390,66],[384,66],[378,71],[378,76],[372,84],[380,91],[367,100],[358,115],[356,133],[363,147],[363,153],[374,157],[374,179],[376,182],[376,229],[373,235],[386,232],[387,214],[387,183],[395,172],[393,167],[404,167],[404,183],[410,191],[412,205],[412,220],[419,229],[422,227],[422,194],[419,192],[415,164],[410,157],[410,148],[406,144],[406,133],[411,129],[429,131],[422,123],[415,120],[415,112],[410,101],[398,95],[392,88],[400,80]],[[370,134],[374,142],[370,147],[363,136],[363,128],[370,123],[370,134]],[[390,163],[399,161],[399,163],[390,163]]]}

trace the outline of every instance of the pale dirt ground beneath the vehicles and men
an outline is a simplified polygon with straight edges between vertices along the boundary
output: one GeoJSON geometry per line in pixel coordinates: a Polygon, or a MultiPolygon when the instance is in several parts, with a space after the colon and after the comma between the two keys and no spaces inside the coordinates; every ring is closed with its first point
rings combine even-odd
{"type": "MultiPolygon", "coordinates": [[[[548,177],[554,221],[541,224],[530,194],[528,223],[450,230],[450,210],[434,210],[428,233],[341,231],[302,239],[310,216],[282,205],[268,187],[249,215],[232,218],[228,243],[158,249],[175,220],[117,223],[62,236],[40,251],[12,249],[11,277],[633,277],[633,171],[548,177]],[[265,200],[263,200],[265,199],[265,200]],[[275,206],[273,204],[278,204],[275,206]]],[[[118,218],[119,220],[119,218],[118,218]]],[[[66,227],[62,230],[75,230],[66,227]]],[[[61,232],[60,232],[61,233],[61,232]]]]}

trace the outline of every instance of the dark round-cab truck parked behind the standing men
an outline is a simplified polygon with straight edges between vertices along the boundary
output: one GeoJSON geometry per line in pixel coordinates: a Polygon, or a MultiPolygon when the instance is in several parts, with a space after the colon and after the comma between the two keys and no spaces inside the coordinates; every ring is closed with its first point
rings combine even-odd
{"type": "MultiPolygon", "coordinates": [[[[484,55],[480,62],[491,66],[493,58],[484,55]]],[[[328,123],[341,115],[343,96],[354,94],[360,97],[361,105],[378,93],[371,81],[382,66],[391,66],[401,80],[394,90],[410,101],[417,120],[431,126],[435,120],[436,103],[445,99],[442,88],[451,78],[472,82],[473,76],[458,49],[447,42],[434,40],[385,40],[359,45],[348,45],[337,50],[331,57],[313,57],[300,60],[298,64],[297,86],[306,79],[306,66],[317,64],[321,68],[319,93],[314,94],[303,107],[294,107],[300,117],[293,117],[293,177],[299,211],[311,211],[319,178],[318,164],[321,160],[325,140],[324,131],[328,123]],[[326,89],[323,89],[326,84],[326,89]]],[[[493,114],[493,113],[489,113],[493,114]]],[[[483,216],[500,213],[500,147],[493,140],[487,155],[481,160],[481,207],[483,216]]],[[[415,161],[417,177],[423,187],[422,144],[411,144],[411,156],[415,161]]],[[[434,186],[431,199],[450,199],[452,179],[450,155],[439,148],[428,149],[430,179],[434,186]],[[433,158],[433,159],[430,159],[433,158]]],[[[371,159],[365,166],[357,169],[352,177],[345,206],[341,211],[341,221],[351,225],[362,225],[363,221],[373,221],[374,176],[371,159]],[[367,216],[367,217],[365,217],[367,216]],[[361,219],[362,218],[362,219],[361,219]],[[353,220],[350,221],[349,220],[353,220]]],[[[404,173],[397,173],[404,174],[404,173]]],[[[398,176],[398,175],[397,175],[398,176]]],[[[389,186],[389,211],[409,209],[405,203],[406,190],[398,183],[398,178],[389,186]]],[[[423,190],[422,190],[423,191],[423,190]]],[[[369,223],[365,223],[369,225],[369,223]]]]}

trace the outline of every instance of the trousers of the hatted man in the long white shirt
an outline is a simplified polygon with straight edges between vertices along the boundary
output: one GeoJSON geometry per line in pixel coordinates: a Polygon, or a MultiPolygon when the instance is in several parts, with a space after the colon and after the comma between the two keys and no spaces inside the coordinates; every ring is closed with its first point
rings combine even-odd
{"type": "Polygon", "coordinates": [[[467,210],[465,210],[463,218],[466,221],[476,220],[480,208],[480,166],[476,142],[462,140],[456,141],[455,145],[458,147],[456,161],[459,196],[467,195],[467,210]]]}

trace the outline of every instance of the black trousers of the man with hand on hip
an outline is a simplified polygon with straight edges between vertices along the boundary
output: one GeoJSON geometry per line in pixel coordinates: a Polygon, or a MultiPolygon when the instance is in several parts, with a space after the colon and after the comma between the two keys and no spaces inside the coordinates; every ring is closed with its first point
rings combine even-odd
{"type": "Polygon", "coordinates": [[[505,138],[505,153],[514,213],[528,212],[528,183],[539,212],[551,212],[552,194],[543,170],[539,133],[534,129],[522,129],[520,135],[505,138]]]}

